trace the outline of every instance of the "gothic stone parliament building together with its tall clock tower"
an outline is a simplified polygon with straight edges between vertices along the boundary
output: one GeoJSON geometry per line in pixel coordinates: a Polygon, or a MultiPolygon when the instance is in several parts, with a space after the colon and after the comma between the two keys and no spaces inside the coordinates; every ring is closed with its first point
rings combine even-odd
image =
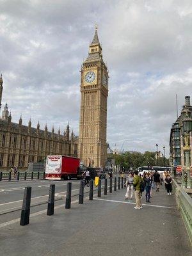
{"type": "MultiPolygon", "coordinates": [[[[108,68],[102,59],[102,47],[97,35],[97,27],[89,46],[88,57],[81,66],[81,106],[79,137],[70,133],[67,125],[63,134],[47,131],[47,124],[31,127],[12,122],[12,115],[5,104],[0,116],[0,170],[13,166],[27,169],[30,162],[44,161],[47,155],[67,155],[80,157],[86,166],[100,167],[106,163],[107,143],[107,99],[108,68]]],[[[0,113],[3,96],[3,77],[0,77],[0,113]]]]}

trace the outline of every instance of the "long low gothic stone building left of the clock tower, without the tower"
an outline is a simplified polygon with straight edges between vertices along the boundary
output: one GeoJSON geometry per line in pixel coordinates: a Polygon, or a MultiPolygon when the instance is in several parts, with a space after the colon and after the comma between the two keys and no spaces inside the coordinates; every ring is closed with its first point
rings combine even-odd
{"type": "MultiPolygon", "coordinates": [[[[3,93],[3,79],[0,77],[0,110],[3,93]]],[[[10,170],[13,166],[19,169],[27,169],[29,162],[44,161],[47,155],[67,155],[77,157],[78,138],[74,132],[70,134],[69,125],[63,135],[40,129],[38,122],[36,128],[12,122],[12,115],[8,111],[8,105],[4,106],[2,118],[0,118],[0,170],[10,170]]]]}

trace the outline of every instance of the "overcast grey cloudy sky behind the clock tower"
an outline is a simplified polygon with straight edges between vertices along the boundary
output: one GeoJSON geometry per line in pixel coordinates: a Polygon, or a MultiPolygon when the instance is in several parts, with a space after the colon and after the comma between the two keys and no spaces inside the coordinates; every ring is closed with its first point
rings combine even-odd
{"type": "MultiPolygon", "coordinates": [[[[109,68],[111,148],[169,152],[170,127],[192,97],[191,0],[0,0],[3,105],[13,122],[67,121],[79,133],[81,63],[95,22],[109,68]],[[116,144],[116,146],[115,146],[116,144]],[[163,150],[162,150],[163,151],[163,150]]],[[[192,99],[191,99],[192,100],[192,99]]]]}

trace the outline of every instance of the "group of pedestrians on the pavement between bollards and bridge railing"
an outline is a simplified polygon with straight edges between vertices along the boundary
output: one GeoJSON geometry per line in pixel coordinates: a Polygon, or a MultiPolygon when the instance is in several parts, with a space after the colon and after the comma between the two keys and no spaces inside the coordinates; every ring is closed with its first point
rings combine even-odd
{"type": "Polygon", "coordinates": [[[129,172],[125,182],[125,186],[127,187],[125,199],[132,200],[134,191],[136,200],[136,206],[134,209],[141,209],[143,208],[141,204],[142,193],[144,191],[146,192],[146,202],[150,203],[150,198],[152,198],[152,189],[156,188],[156,192],[159,192],[159,188],[161,185],[163,185],[163,183],[167,191],[167,195],[172,195],[172,177],[170,172],[144,172],[143,175],[139,174],[137,170],[134,172],[129,172]]]}

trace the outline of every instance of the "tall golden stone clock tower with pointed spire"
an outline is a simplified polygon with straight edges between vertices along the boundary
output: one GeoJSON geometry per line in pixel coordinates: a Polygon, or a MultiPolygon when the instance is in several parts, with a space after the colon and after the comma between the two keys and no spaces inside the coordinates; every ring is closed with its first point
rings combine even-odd
{"type": "Polygon", "coordinates": [[[108,68],[102,60],[97,26],[81,67],[79,157],[86,166],[104,167],[107,157],[108,68]]]}

